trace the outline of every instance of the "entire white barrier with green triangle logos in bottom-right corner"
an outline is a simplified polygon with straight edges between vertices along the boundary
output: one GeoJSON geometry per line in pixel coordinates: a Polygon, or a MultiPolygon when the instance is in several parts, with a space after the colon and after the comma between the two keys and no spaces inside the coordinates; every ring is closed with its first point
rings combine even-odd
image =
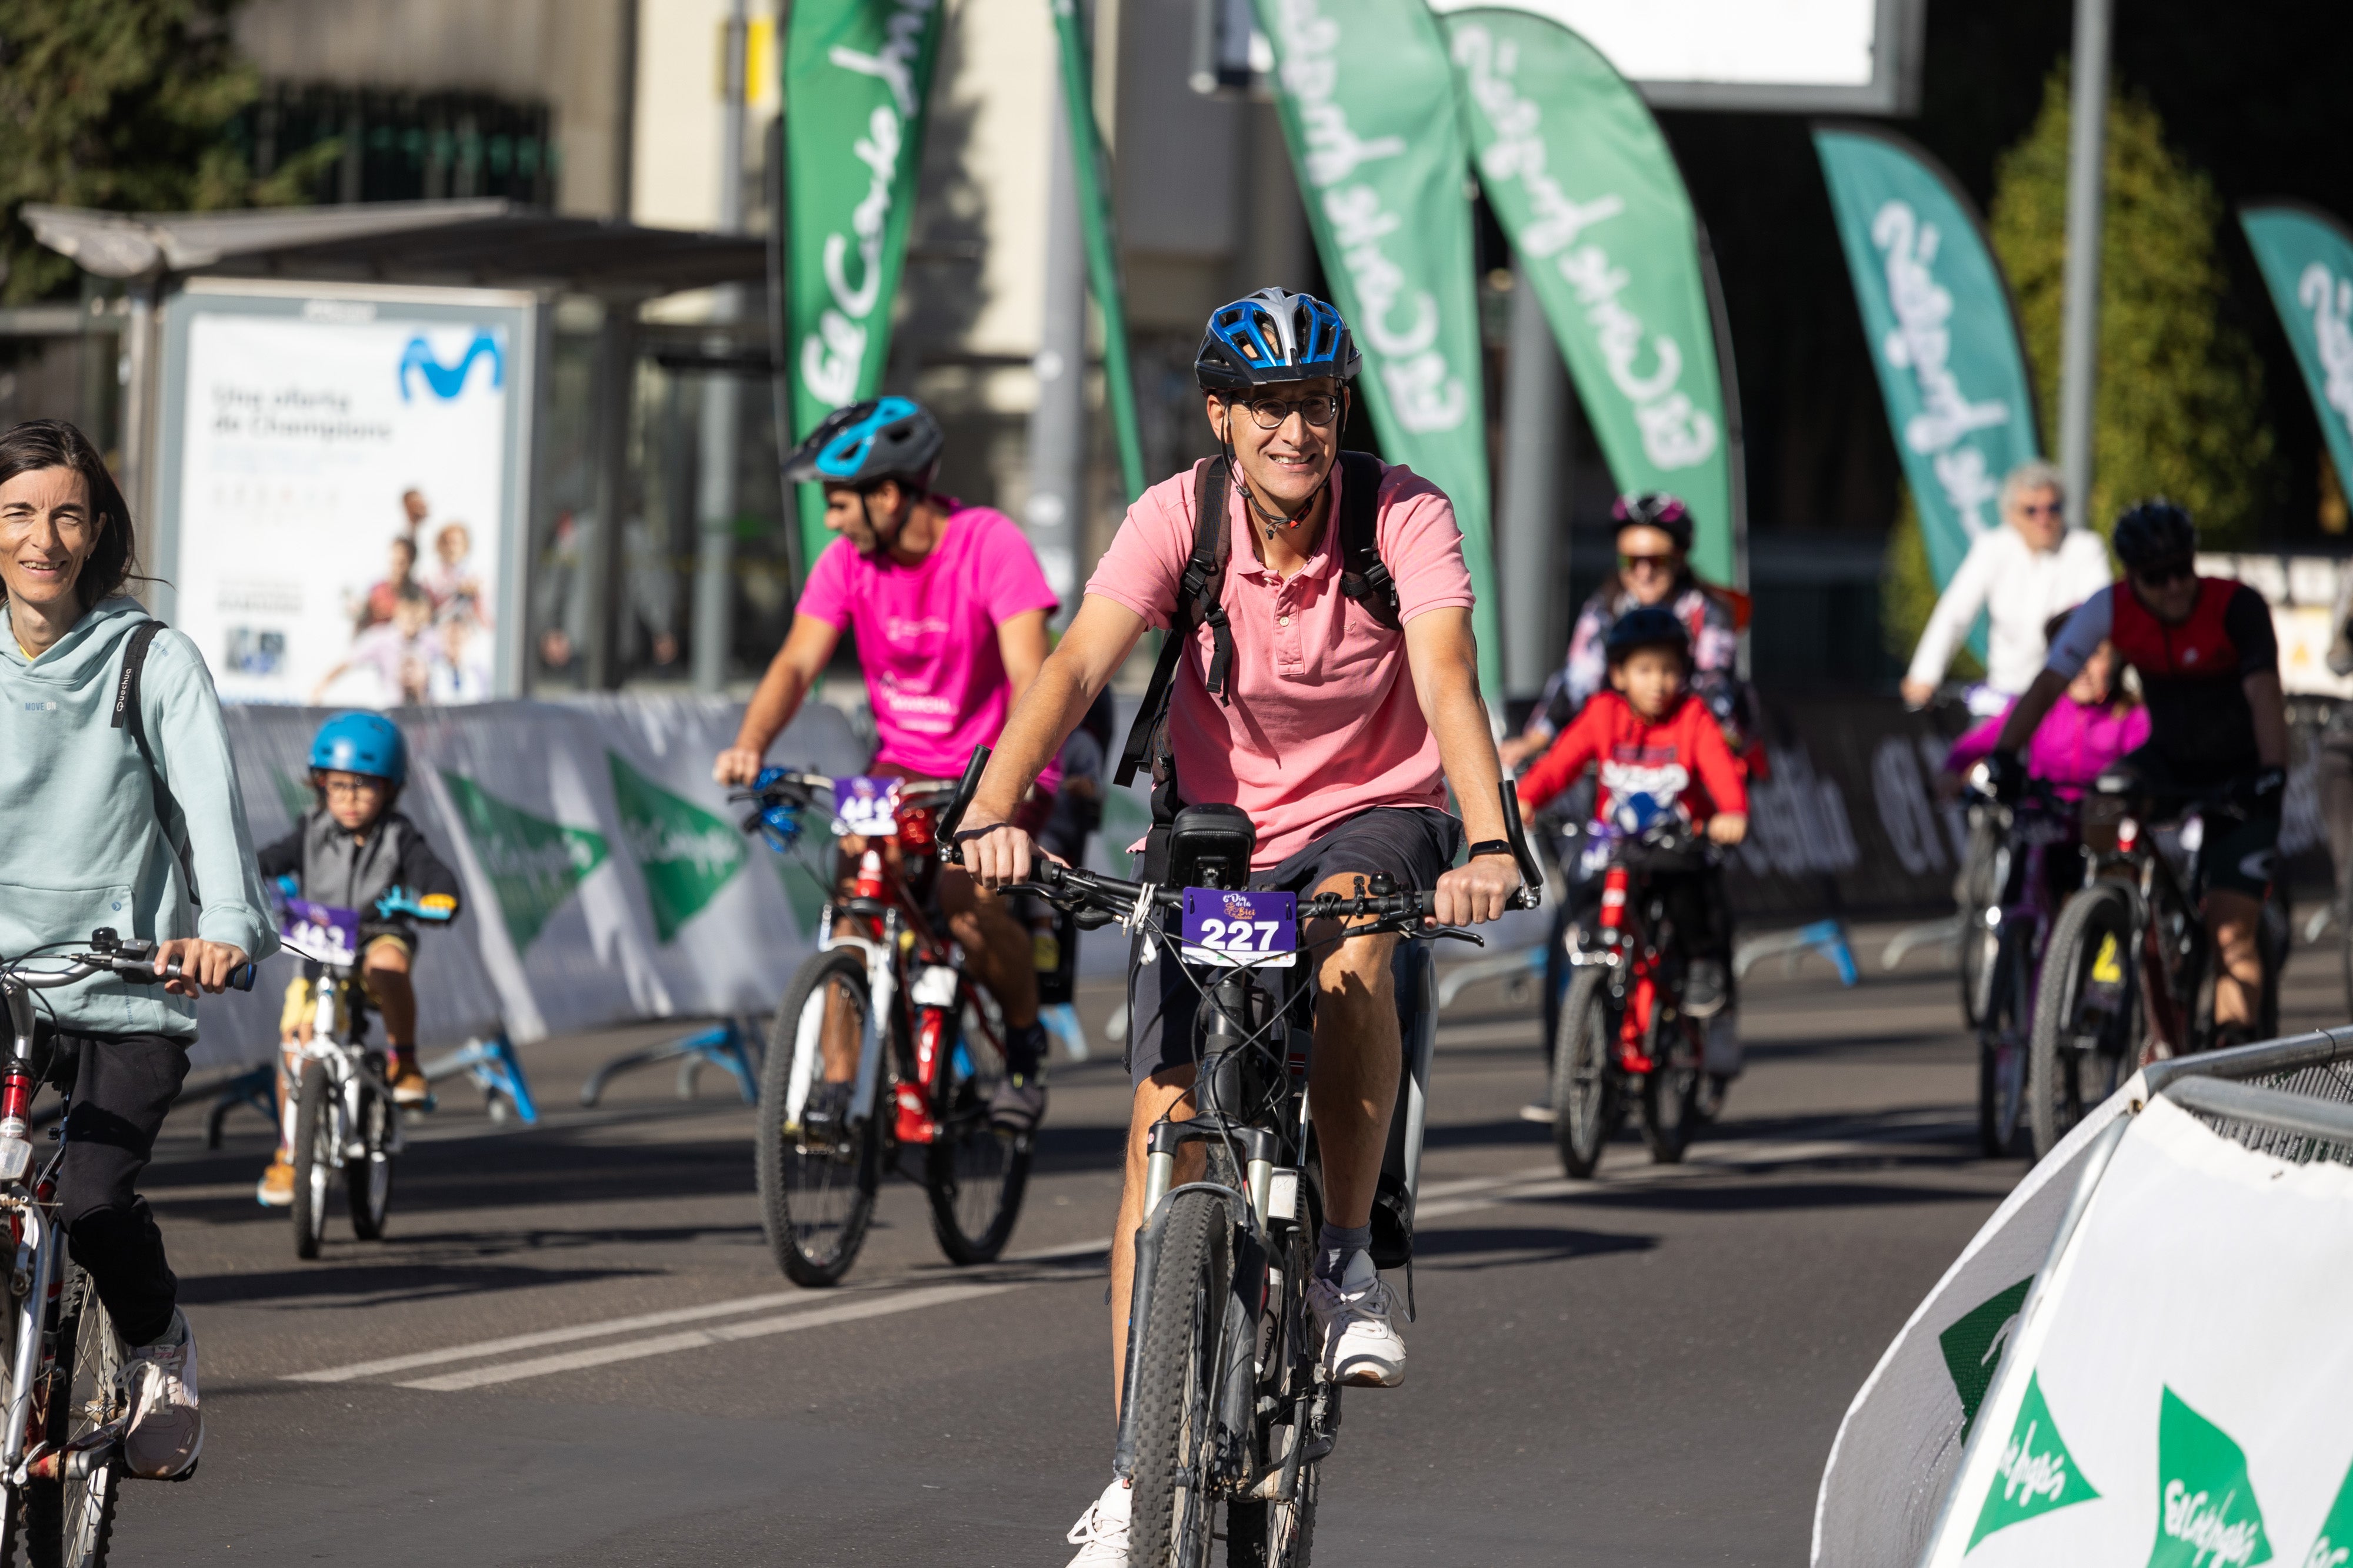
{"type": "Polygon", "coordinates": [[[2353,1563],[2341,1037],[2153,1067],[2035,1166],[1854,1396],[1812,1561],[2353,1563]],[[2322,1098],[2228,1081],[2266,1053],[2322,1098]]]}

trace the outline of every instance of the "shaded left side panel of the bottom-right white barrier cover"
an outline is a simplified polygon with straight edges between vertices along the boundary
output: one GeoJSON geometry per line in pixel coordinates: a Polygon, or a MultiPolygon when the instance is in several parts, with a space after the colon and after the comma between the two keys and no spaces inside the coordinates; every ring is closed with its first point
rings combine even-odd
{"type": "Polygon", "coordinates": [[[1871,1368],[1838,1425],[1814,1497],[1817,1568],[1920,1561],[2082,1161],[2099,1133],[2144,1095],[2134,1074],[2087,1112],[2002,1199],[1871,1368]]]}

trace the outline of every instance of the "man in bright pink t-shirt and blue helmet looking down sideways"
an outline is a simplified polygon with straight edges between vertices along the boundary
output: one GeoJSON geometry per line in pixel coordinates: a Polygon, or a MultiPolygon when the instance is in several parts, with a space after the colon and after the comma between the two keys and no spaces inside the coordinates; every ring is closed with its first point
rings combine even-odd
{"type": "MultiPolygon", "coordinates": [[[[998,738],[1045,663],[1054,590],[1012,517],[932,491],[944,444],[929,411],[882,397],[826,416],[788,458],[786,480],[826,487],[826,527],[840,538],[809,567],[793,630],[744,708],[734,745],[711,769],[718,783],[760,776],[769,743],[800,712],[845,630],[856,637],[873,708],[871,773],[958,778],[972,752],[998,738]]],[[[1026,825],[1045,823],[1052,790],[1047,776],[1021,802],[1026,825]]],[[[1031,1133],[1045,1114],[1031,933],[967,872],[941,867],[936,886],[965,961],[1005,1011],[1005,1079],[991,1119],[1031,1133]]],[[[849,1032],[826,1032],[826,1081],[809,1091],[805,1117],[847,1112],[854,1046],[849,1032]]]]}

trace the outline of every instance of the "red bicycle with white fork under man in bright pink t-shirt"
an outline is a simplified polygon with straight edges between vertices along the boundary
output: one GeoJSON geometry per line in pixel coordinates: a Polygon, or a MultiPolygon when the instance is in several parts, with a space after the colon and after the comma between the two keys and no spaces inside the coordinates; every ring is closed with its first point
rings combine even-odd
{"type": "Polygon", "coordinates": [[[765,769],[739,802],[779,851],[824,809],[859,870],[828,898],[816,954],[784,987],[760,1067],[760,1215],[776,1267],[831,1286],[859,1255],[885,1168],[932,1199],[948,1262],[991,1262],[1021,1218],[1031,1140],[998,1131],[1005,1079],[995,1004],[965,973],[934,900],[939,809],[953,783],[765,769]]]}

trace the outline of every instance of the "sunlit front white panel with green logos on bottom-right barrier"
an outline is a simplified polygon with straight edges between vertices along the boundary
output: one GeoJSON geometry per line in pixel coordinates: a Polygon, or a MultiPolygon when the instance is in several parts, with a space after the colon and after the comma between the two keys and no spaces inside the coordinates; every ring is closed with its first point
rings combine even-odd
{"type": "Polygon", "coordinates": [[[2353,1171],[2151,1103],[2019,1324],[1929,1563],[2344,1568],[2348,1298],[2353,1171]]]}

